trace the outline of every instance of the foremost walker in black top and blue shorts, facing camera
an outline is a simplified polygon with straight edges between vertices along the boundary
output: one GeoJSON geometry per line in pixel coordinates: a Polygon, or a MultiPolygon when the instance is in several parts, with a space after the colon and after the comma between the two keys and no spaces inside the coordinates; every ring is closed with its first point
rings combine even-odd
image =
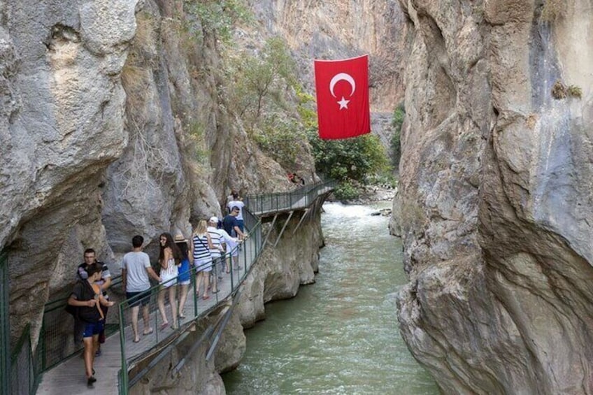
{"type": "Polygon", "coordinates": [[[105,316],[101,306],[113,306],[115,302],[110,302],[103,297],[101,287],[95,284],[101,278],[101,266],[93,263],[87,266],[87,279],[78,280],[68,299],[70,306],[78,307],[78,317],[85,323],[83,330],[83,343],[85,345],[85,373],[87,375],[87,385],[92,386],[97,381],[94,378],[93,362],[94,356],[99,347],[99,333],[105,326],[105,316]]]}

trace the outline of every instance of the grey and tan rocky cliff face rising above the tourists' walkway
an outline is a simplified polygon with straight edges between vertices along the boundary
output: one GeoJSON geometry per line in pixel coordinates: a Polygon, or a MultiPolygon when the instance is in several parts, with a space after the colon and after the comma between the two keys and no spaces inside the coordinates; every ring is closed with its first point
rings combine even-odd
{"type": "Polygon", "coordinates": [[[154,257],[155,237],[220,215],[229,189],[290,187],[227,110],[215,36],[183,1],[10,0],[0,13],[13,340],[29,322],[36,338],[85,248],[119,273],[134,234],[154,257]]]}

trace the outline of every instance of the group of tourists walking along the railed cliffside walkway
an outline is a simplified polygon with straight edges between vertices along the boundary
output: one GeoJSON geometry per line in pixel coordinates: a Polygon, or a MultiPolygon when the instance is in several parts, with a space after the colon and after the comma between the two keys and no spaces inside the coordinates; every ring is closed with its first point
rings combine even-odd
{"type": "MultiPolygon", "coordinates": [[[[144,336],[153,332],[150,327],[150,278],[159,282],[157,305],[161,316],[160,328],[169,326],[165,299],[169,297],[171,309],[171,329],[178,329],[179,319],[185,319],[184,308],[190,289],[190,262],[193,262],[196,277],[195,292],[203,300],[210,299],[210,293],[219,292],[218,285],[223,273],[240,270],[238,266],[238,244],[245,239],[243,222],[243,201],[233,191],[227,199],[228,214],[220,221],[210,217],[200,220],[192,238],[188,241],[180,232],[173,238],[170,233],[159,236],[159,274],[152,268],[150,257],[143,252],[144,238],[134,236],[132,250],[124,255],[121,262],[122,288],[131,308],[131,327],[134,343],[140,342],[138,314],[142,307],[144,336]],[[229,256],[230,260],[226,257],[229,256]],[[177,294],[179,289],[179,301],[177,294]],[[179,303],[178,303],[179,302],[179,303]]],[[[97,261],[94,250],[87,249],[85,261],[78,266],[78,282],[74,286],[68,304],[76,308],[74,340],[84,345],[85,373],[87,385],[97,381],[94,378],[94,358],[101,355],[101,343],[105,342],[105,317],[108,306],[107,289],[111,285],[111,275],[106,264],[97,261]]]]}

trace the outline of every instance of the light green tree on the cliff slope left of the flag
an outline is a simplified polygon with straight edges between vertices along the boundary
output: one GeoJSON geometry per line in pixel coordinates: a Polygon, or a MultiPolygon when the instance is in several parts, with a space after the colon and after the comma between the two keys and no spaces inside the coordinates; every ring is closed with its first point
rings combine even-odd
{"type": "Polygon", "coordinates": [[[262,150],[283,167],[294,168],[299,154],[307,150],[299,114],[310,122],[315,112],[310,109],[312,97],[297,81],[296,63],[283,39],[269,38],[257,55],[243,52],[232,58],[225,72],[229,108],[262,150]],[[290,103],[295,95],[298,113],[290,103]]]}

